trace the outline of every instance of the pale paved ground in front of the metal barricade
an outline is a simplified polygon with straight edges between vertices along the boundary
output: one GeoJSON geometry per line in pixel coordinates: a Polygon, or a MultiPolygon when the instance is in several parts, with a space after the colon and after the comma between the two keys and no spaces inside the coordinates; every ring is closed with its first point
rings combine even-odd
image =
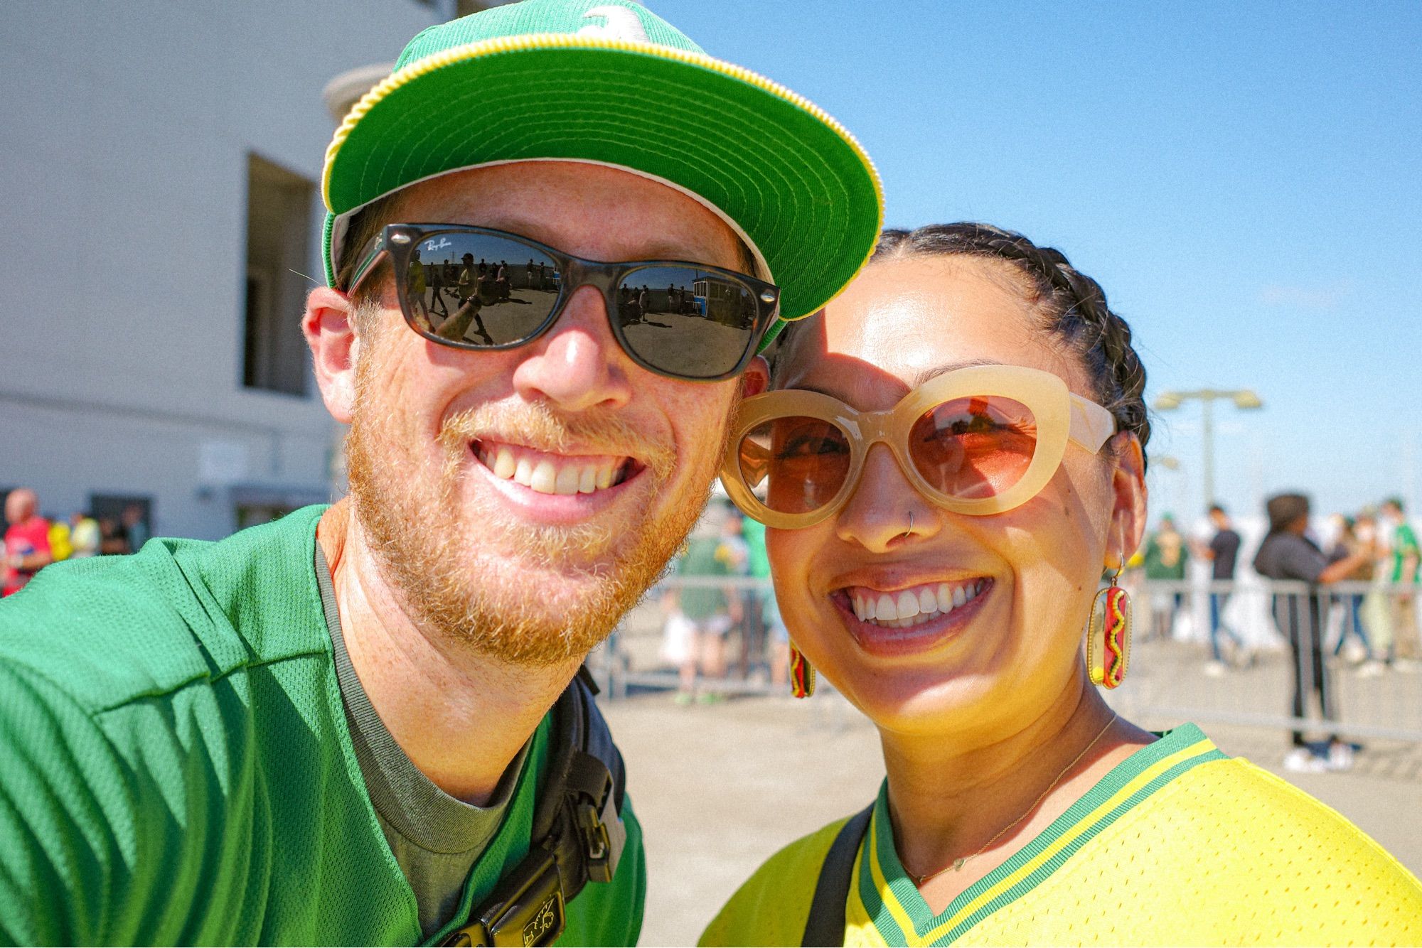
{"type": "MultiPolygon", "coordinates": [[[[751,871],[846,816],[883,779],[877,735],[833,694],[680,708],[667,694],[604,702],[646,830],[643,945],[695,942],[751,871]]],[[[1170,721],[1138,718],[1150,728],[1170,721]]],[[[1371,740],[1352,773],[1281,769],[1287,735],[1206,725],[1226,753],[1280,773],[1422,874],[1422,745],[1371,740]]]]}

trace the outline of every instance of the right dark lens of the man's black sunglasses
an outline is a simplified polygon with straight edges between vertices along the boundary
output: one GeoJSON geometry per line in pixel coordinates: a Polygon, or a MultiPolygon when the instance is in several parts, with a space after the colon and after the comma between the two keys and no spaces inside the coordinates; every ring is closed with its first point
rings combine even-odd
{"type": "Polygon", "coordinates": [[[643,267],[616,290],[627,348],[681,378],[734,370],[751,345],[757,303],[738,280],[697,267],[643,267]]]}

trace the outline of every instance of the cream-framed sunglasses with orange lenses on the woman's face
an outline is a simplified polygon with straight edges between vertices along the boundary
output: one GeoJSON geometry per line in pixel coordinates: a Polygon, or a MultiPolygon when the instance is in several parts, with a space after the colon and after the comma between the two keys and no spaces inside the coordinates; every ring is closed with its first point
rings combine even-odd
{"type": "Polygon", "coordinates": [[[1098,453],[1115,431],[1109,411],[1057,375],[1021,365],[944,372],[882,412],[781,389],[741,402],[721,483],[765,526],[808,527],[845,506],[869,449],[883,443],[923,496],[983,516],[1037,496],[1068,441],[1098,453]]]}

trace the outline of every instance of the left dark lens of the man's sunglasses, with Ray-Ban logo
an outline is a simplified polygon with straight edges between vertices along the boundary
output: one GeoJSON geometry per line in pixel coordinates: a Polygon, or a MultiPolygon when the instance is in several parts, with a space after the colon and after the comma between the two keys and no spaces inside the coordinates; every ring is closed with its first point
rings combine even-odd
{"type": "Polygon", "coordinates": [[[455,345],[509,345],[543,324],[557,300],[553,259],[519,240],[438,232],[414,249],[405,306],[415,325],[455,345]]]}

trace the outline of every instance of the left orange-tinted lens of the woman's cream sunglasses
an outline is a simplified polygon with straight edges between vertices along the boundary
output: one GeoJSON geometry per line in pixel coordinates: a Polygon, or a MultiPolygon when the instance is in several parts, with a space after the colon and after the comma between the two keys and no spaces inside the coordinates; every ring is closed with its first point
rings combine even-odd
{"type": "Polygon", "coordinates": [[[835,499],[849,475],[849,441],[819,418],[775,418],[741,438],[741,476],[765,486],[765,506],[808,513],[835,499]]]}

